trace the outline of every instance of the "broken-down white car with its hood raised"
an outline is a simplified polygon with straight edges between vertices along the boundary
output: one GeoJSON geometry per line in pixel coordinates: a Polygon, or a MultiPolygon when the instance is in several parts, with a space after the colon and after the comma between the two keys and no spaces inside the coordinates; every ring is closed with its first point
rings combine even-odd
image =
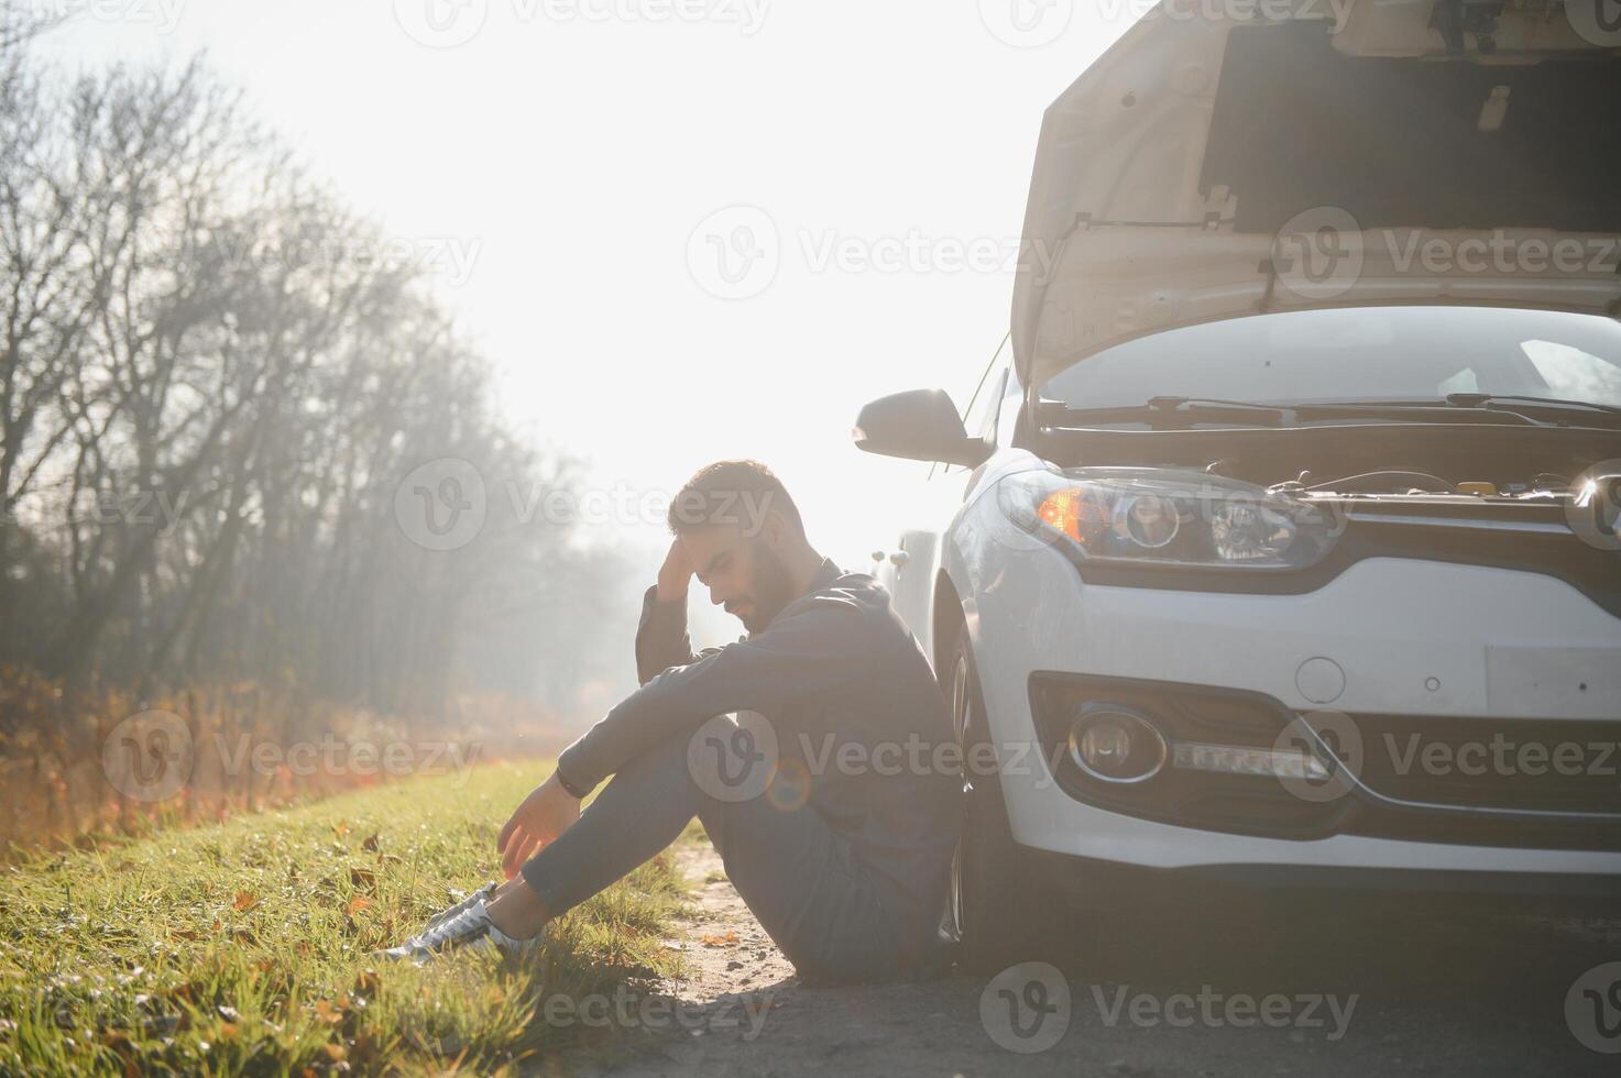
{"type": "Polygon", "coordinates": [[[971,468],[877,566],[968,749],[971,963],[1122,877],[1621,893],[1621,34],[1584,3],[1156,8],[1049,109],[982,420],[854,431],[971,468]]]}

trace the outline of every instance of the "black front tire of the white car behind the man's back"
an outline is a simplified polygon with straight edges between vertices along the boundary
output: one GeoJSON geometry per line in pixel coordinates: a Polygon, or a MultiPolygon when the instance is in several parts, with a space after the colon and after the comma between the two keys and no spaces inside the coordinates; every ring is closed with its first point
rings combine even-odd
{"type": "Polygon", "coordinates": [[[964,817],[952,859],[948,914],[958,939],[958,963],[981,974],[1033,960],[1063,965],[1075,958],[1065,896],[1031,851],[1013,841],[995,770],[973,765],[992,757],[984,747],[976,749],[989,744],[989,726],[966,632],[958,632],[945,673],[963,751],[964,817]]]}

